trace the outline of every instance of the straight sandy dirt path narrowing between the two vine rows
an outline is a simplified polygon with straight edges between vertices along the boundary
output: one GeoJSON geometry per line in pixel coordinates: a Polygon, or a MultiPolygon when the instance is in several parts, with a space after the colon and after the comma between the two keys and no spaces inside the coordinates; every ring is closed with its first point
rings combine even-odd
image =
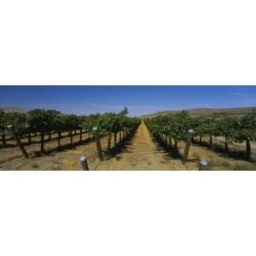
{"type": "Polygon", "coordinates": [[[190,170],[193,167],[184,166],[181,160],[167,157],[142,122],[131,143],[122,150],[120,159],[104,161],[97,166],[97,170],[190,170]]]}

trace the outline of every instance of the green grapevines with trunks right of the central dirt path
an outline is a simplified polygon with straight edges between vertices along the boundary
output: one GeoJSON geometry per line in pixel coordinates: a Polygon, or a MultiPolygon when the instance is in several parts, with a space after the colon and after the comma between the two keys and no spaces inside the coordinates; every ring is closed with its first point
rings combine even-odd
{"type": "Polygon", "coordinates": [[[224,151],[228,153],[229,143],[246,143],[245,159],[251,160],[251,141],[256,139],[256,112],[248,113],[242,118],[236,117],[197,117],[192,118],[185,111],[175,114],[158,116],[147,119],[148,129],[154,137],[169,143],[177,154],[177,141],[188,137],[188,131],[192,133],[191,141],[194,137],[209,138],[209,147],[213,148],[212,137],[224,137],[224,151]],[[168,142],[167,142],[168,140],[168,142]]]}

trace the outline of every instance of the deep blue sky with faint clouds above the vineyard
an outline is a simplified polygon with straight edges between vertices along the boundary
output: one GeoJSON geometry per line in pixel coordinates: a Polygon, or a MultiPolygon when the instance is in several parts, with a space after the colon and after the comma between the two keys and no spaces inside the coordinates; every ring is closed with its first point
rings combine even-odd
{"type": "Polygon", "coordinates": [[[256,106],[256,86],[0,86],[0,108],[56,109],[64,113],[130,115],[167,109],[256,106]]]}

